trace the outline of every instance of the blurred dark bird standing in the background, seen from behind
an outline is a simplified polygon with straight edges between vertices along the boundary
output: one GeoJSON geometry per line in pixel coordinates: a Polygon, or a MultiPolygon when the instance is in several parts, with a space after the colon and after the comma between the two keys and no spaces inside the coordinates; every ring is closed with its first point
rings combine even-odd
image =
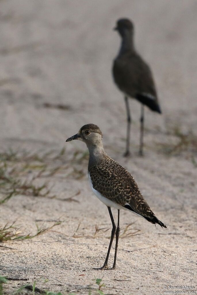
{"type": "Polygon", "coordinates": [[[127,112],[127,141],[124,156],[130,155],[131,115],[128,97],[141,103],[140,116],[140,156],[143,155],[144,105],[153,112],[161,114],[157,91],[149,65],[137,53],[134,46],[134,25],[126,18],[117,20],[114,30],[120,34],[121,45],[117,57],[113,61],[113,79],[125,98],[127,112]]]}

